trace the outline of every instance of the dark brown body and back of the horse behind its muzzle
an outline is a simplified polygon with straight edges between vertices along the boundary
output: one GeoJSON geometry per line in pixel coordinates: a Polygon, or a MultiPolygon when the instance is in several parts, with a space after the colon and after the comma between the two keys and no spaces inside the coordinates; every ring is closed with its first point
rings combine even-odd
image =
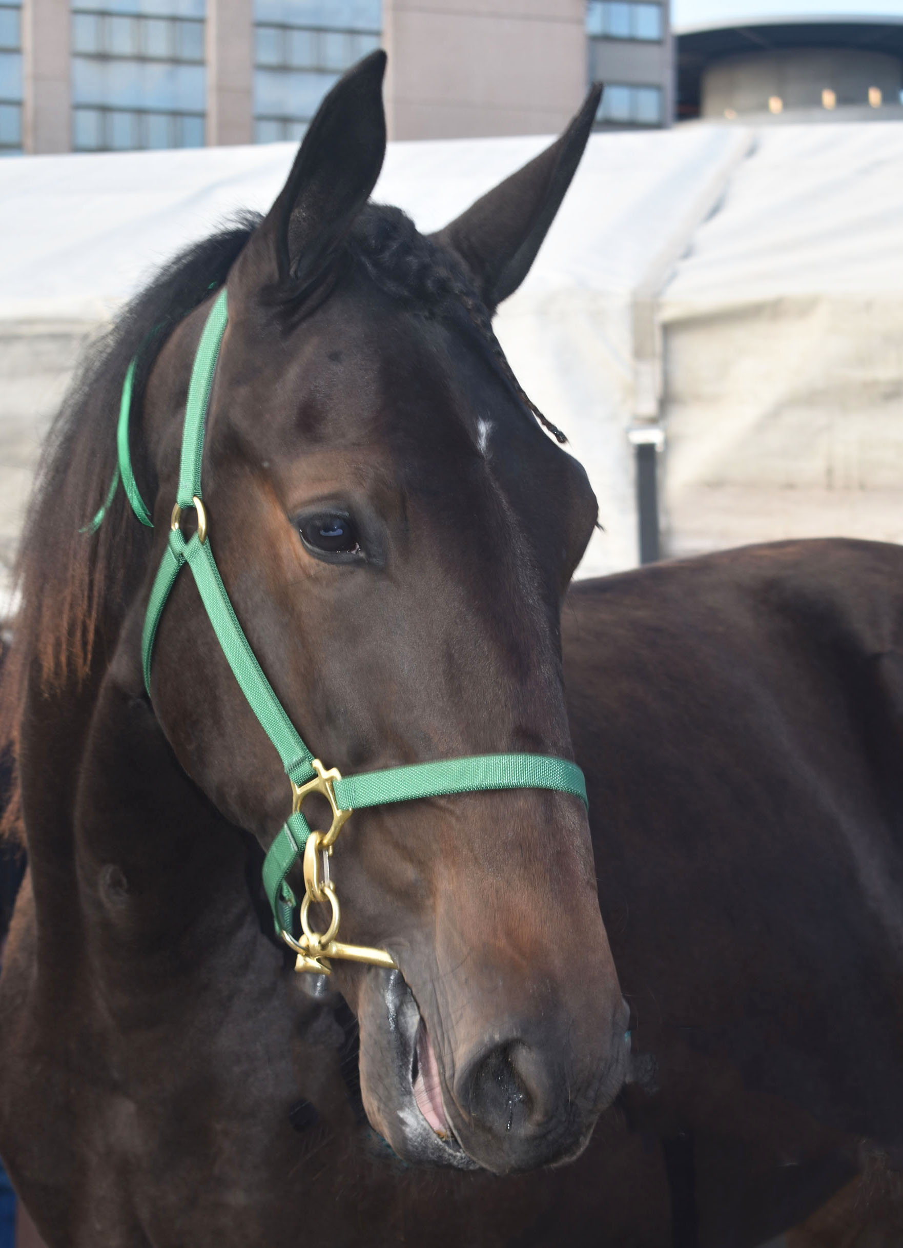
{"type": "Polygon", "coordinates": [[[765,1241],[844,1184],[838,1238],[798,1242],[901,1241],[902,583],[899,547],[824,539],[567,595],[600,905],[654,1067],[624,1098],[683,1141],[680,1242],[757,1242],[740,1208],[765,1241]]]}

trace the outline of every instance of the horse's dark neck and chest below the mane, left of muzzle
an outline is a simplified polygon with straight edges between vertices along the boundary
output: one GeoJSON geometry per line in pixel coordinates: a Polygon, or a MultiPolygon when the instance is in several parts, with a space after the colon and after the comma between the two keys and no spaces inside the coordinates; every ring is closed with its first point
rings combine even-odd
{"type": "MultiPolygon", "coordinates": [[[[345,1037],[262,936],[243,834],[177,765],[127,645],[80,690],[29,698],[32,885],[0,980],[0,1070],[12,1072],[0,1078],[0,1143],[26,1158],[32,1207],[56,1201],[49,1242],[137,1242],[136,1216],[123,1229],[113,1199],[92,1213],[101,1231],[76,1237],[71,1192],[127,1174],[153,1222],[148,1176],[170,1158],[166,1217],[195,1228],[190,1242],[238,1242],[239,1209],[242,1243],[288,1248],[306,1204],[303,1184],[284,1183],[299,1164],[292,1106],[331,1107],[333,1167],[357,1138],[345,1037]]],[[[316,1211],[311,1229],[327,1233],[316,1211]]]]}

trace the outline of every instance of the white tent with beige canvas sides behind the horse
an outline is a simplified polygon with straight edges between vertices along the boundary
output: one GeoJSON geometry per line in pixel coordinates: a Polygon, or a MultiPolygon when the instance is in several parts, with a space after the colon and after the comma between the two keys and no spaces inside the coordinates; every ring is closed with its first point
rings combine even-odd
{"type": "MultiPolygon", "coordinates": [[[[549,141],[390,144],[375,198],[429,231],[549,141]]],[[[81,336],[183,245],[266,210],[293,152],[0,162],[0,560],[81,336]]],[[[498,318],[600,500],[582,574],[636,562],[626,431],[662,414],[674,553],[821,532],[903,539],[901,171],[896,122],[592,136],[498,318]]]]}

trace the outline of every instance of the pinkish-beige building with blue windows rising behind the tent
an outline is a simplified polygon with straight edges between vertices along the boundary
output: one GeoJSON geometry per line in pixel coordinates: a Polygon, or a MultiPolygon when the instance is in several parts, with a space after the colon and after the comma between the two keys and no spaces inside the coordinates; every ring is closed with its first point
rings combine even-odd
{"type": "Polygon", "coordinates": [[[669,0],[0,0],[0,152],[297,140],[380,45],[392,139],[671,122],[669,0]]]}

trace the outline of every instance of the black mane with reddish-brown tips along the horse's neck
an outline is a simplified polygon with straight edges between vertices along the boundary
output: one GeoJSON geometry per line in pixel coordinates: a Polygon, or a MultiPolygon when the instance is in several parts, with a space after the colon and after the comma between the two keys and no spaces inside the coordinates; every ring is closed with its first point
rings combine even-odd
{"type": "MultiPolygon", "coordinates": [[[[136,524],[122,489],[105,523],[82,532],[116,469],[122,381],[140,356],[132,452],[141,464],[140,397],[175,326],[222,285],[257,225],[243,215],[176,256],[89,351],[44,443],[15,565],[21,607],[0,679],[0,754],[16,753],[26,680],[56,688],[87,675],[99,639],[110,640],[146,567],[150,530],[136,524]]],[[[15,799],[15,790],[14,790],[15,799]]],[[[2,822],[15,826],[14,800],[2,822]]]]}

